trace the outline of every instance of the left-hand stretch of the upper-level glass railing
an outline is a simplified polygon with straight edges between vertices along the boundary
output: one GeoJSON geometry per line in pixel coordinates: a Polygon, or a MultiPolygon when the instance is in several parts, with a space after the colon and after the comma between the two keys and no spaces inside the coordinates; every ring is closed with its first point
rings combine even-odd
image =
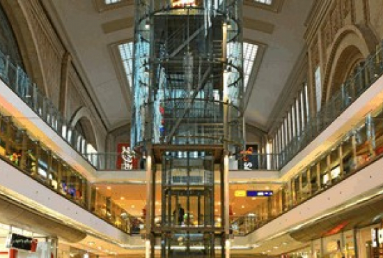
{"type": "MultiPolygon", "coordinates": [[[[88,150],[95,149],[86,142],[84,135],[81,135],[75,128],[70,126],[63,114],[58,111],[55,105],[49,100],[29,76],[19,66],[15,66],[9,56],[0,52],[0,79],[35,112],[42,121],[60,135],[73,149],[80,153],[88,162],[86,154],[88,150]]],[[[93,165],[93,164],[92,164],[93,165]]]]}

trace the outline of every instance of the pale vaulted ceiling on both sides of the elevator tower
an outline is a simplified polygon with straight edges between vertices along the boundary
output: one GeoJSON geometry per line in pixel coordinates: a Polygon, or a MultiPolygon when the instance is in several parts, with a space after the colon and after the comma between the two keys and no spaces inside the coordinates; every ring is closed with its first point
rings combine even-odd
{"type": "MultiPolygon", "coordinates": [[[[245,0],[244,40],[259,45],[247,86],[247,123],[267,130],[272,110],[304,50],[305,21],[314,0],[245,0]]],[[[133,38],[131,0],[42,0],[109,130],[129,123],[131,92],[118,45],[133,38]]]]}

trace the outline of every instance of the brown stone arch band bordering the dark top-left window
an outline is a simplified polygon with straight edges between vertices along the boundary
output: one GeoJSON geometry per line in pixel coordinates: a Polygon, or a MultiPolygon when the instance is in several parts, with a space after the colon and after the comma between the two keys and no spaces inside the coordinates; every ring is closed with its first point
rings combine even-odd
{"type": "Polygon", "coordinates": [[[24,4],[24,1],[1,1],[1,6],[15,33],[26,73],[31,81],[36,82],[39,89],[46,94],[45,76],[42,71],[38,45],[36,44],[36,35],[32,32],[31,21],[26,15],[24,4]]]}

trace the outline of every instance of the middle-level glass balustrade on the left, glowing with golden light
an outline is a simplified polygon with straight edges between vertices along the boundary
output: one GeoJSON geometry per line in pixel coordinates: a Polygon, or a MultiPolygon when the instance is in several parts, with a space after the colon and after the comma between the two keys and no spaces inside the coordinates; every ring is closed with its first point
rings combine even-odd
{"type": "Polygon", "coordinates": [[[118,229],[130,233],[131,227],[134,227],[136,218],[118,206],[111,197],[103,195],[38,139],[33,139],[26,130],[18,128],[10,116],[1,114],[0,158],[118,229]]]}

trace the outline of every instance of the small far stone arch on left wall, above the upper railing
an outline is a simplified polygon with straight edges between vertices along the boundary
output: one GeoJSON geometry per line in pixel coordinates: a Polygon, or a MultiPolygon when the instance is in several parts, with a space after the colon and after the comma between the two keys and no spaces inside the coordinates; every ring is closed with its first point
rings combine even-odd
{"type": "Polygon", "coordinates": [[[70,119],[70,127],[75,128],[77,123],[81,123],[82,128],[84,128],[86,139],[93,147],[98,151],[99,150],[99,142],[98,137],[95,130],[95,125],[93,120],[91,119],[91,112],[87,107],[79,107],[72,115],[70,119]]]}

